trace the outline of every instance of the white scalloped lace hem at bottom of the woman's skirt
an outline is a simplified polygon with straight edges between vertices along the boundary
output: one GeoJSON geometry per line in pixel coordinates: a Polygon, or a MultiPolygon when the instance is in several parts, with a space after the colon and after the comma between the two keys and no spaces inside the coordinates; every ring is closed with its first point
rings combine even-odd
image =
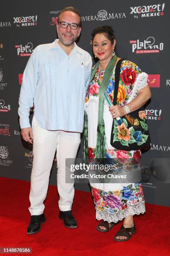
{"type": "Polygon", "coordinates": [[[128,216],[133,216],[135,214],[140,215],[141,213],[145,212],[145,204],[140,203],[134,206],[128,206],[128,208],[124,212],[118,212],[117,214],[112,214],[108,212],[100,212],[96,209],[96,219],[97,220],[106,220],[108,223],[110,222],[117,222],[119,220],[123,220],[128,216]]]}

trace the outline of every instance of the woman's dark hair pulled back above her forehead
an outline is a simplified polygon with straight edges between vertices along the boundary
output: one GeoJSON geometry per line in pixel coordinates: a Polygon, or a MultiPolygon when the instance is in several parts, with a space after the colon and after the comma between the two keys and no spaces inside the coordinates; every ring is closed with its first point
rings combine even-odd
{"type": "Polygon", "coordinates": [[[93,39],[94,39],[96,34],[105,34],[107,39],[110,40],[111,44],[113,44],[114,43],[114,39],[116,39],[115,35],[114,35],[114,31],[113,31],[113,29],[110,26],[102,26],[102,27],[95,28],[92,31],[92,34],[91,34],[92,41],[93,41],[93,39]]]}

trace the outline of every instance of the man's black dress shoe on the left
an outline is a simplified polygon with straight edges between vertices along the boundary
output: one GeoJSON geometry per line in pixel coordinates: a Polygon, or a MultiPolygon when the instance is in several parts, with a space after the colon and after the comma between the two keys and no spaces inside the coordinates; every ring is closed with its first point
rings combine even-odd
{"type": "Polygon", "coordinates": [[[32,215],[31,222],[27,228],[27,234],[35,234],[40,231],[40,226],[45,222],[45,215],[42,213],[41,215],[32,215]]]}

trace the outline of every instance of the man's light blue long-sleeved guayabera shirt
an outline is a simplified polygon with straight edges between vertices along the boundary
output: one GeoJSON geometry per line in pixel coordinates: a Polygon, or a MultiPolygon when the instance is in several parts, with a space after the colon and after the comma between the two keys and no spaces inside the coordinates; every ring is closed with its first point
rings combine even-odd
{"type": "Polygon", "coordinates": [[[28,60],[19,98],[20,127],[30,127],[34,103],[41,128],[82,132],[92,58],[76,44],[68,56],[57,41],[37,46],[28,60]]]}

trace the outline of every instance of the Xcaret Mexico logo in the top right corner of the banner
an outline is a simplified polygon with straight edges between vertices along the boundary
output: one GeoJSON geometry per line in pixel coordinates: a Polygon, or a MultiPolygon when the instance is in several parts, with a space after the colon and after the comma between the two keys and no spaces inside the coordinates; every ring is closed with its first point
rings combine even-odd
{"type": "Polygon", "coordinates": [[[145,17],[155,17],[155,16],[163,16],[163,10],[165,7],[165,3],[158,5],[142,5],[130,7],[131,13],[134,14],[134,18],[145,18],[145,17]]]}

